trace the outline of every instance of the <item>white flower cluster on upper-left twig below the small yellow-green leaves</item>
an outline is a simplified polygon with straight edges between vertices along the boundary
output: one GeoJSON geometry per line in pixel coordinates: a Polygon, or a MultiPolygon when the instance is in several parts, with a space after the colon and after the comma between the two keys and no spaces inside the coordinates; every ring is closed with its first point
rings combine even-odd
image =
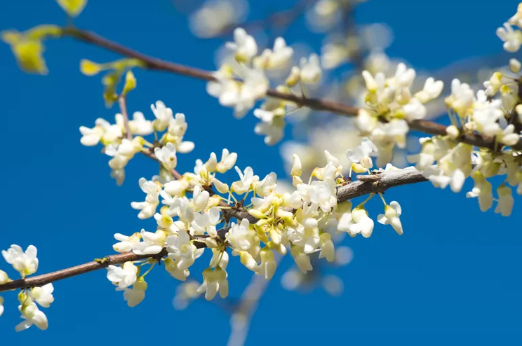
{"type": "Polygon", "coordinates": [[[185,114],[176,113],[161,101],[151,105],[154,120],[147,120],[142,112],[133,113],[133,118],[128,121],[121,113],[116,114],[114,124],[107,120],[98,118],[95,127],[80,127],[82,137],[81,144],[84,146],[95,146],[101,143],[105,154],[111,157],[109,167],[112,169],[111,176],[116,179],[118,185],[123,184],[125,179],[125,167],[136,153],[152,153],[162,162],[165,169],[176,167],[176,153],[189,153],[194,149],[192,141],[184,141],[183,136],[187,131],[185,114]],[[126,126],[127,123],[127,126],[126,126]],[[127,132],[128,131],[128,132],[127,132]],[[153,134],[156,138],[161,135],[159,148],[143,138],[153,134]]]}

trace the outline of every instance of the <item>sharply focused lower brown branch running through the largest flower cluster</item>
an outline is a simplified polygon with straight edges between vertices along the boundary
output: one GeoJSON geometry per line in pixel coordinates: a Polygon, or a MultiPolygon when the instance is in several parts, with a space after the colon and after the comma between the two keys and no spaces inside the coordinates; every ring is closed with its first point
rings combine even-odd
{"type": "MultiPolygon", "coordinates": [[[[401,186],[406,184],[415,184],[422,181],[426,181],[414,167],[408,167],[404,169],[394,169],[384,172],[378,172],[369,176],[357,176],[358,180],[351,182],[345,186],[341,186],[337,190],[338,202],[344,202],[351,200],[352,198],[366,195],[368,193],[383,193],[389,188],[395,186],[401,186]]],[[[234,212],[236,219],[247,219],[250,223],[255,223],[257,219],[248,214],[246,211],[234,212]]],[[[229,227],[221,228],[217,230],[217,235],[221,240],[225,240],[229,227]]],[[[203,239],[201,239],[203,240],[203,239]]],[[[194,242],[194,245],[198,248],[206,247],[204,242],[194,242]]],[[[50,272],[48,274],[37,275],[35,277],[29,277],[27,279],[19,279],[0,285],[0,292],[9,291],[12,289],[27,289],[29,287],[43,286],[45,284],[55,282],[67,277],[73,277],[76,275],[85,274],[94,270],[107,268],[109,265],[122,264],[127,261],[138,261],[145,258],[161,258],[166,256],[167,251],[163,249],[159,254],[155,255],[136,255],[133,252],[126,252],[124,254],[117,254],[102,258],[100,261],[93,261],[76,265],[72,268],[58,270],[56,272],[50,272]]]]}

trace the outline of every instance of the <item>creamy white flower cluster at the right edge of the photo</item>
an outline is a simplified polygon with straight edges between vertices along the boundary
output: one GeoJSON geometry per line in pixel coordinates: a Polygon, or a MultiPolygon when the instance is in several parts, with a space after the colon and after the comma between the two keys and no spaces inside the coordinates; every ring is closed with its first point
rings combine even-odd
{"type": "MultiPolygon", "coordinates": [[[[522,32],[513,30],[511,25],[520,27],[522,4],[516,15],[503,28],[497,30],[505,41],[504,49],[515,52],[522,44],[522,32]]],[[[446,129],[446,136],[421,138],[422,150],[412,155],[410,160],[434,186],[450,186],[459,192],[468,177],[474,180],[474,188],[467,198],[478,198],[481,211],[493,207],[495,212],[509,216],[514,199],[509,186],[516,187],[522,194],[522,159],[518,146],[522,130],[522,106],[518,97],[521,81],[521,62],[509,60],[509,71],[495,71],[483,83],[484,90],[474,92],[467,83],[454,79],[451,95],[446,97],[446,106],[452,125],[446,129]],[[479,134],[490,146],[476,148],[459,139],[479,134]],[[435,165],[436,164],[436,165],[435,165]],[[497,198],[493,198],[493,186],[488,178],[505,176],[496,188],[497,198]]]]}

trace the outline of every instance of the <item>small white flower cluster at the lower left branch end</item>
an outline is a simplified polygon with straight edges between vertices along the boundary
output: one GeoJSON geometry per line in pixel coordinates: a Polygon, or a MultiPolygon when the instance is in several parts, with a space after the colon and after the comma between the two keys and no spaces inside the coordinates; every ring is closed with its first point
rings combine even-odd
{"type": "MultiPolygon", "coordinates": [[[[18,245],[11,245],[8,250],[2,251],[2,256],[7,263],[11,264],[13,268],[20,274],[22,279],[32,275],[38,270],[38,258],[36,257],[37,250],[33,245],[29,245],[25,251],[18,245]]],[[[12,281],[9,279],[6,272],[0,270],[0,284],[6,284],[12,281]]],[[[46,314],[39,310],[41,307],[49,307],[54,301],[53,284],[46,284],[41,287],[33,287],[29,289],[22,289],[18,293],[18,310],[22,314],[23,321],[16,326],[16,331],[23,331],[33,324],[41,330],[46,330],[48,321],[46,314]],[[38,305],[36,305],[38,303],[38,305]]],[[[0,316],[4,313],[4,298],[0,297],[0,316]]]]}

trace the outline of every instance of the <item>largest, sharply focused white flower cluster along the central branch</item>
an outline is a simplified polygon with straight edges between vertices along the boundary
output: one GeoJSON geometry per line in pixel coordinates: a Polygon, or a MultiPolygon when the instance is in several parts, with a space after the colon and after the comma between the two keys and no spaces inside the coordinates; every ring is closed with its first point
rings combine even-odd
{"type": "MultiPolygon", "coordinates": [[[[358,165],[371,167],[366,156],[368,147],[373,148],[374,144],[365,138],[357,153],[348,151],[347,155],[352,160],[359,155],[363,163],[358,165]]],[[[197,160],[194,173],[185,173],[181,179],[140,179],[147,196],[145,202],[133,202],[133,207],[141,209],[140,219],[154,216],[156,230],[141,230],[130,236],[116,233],[114,238],[119,242],[113,248],[149,258],[121,266],[109,265],[107,278],[117,286],[116,290],[124,291],[128,305],[135,306],[145,298],[145,275],[157,261],[165,263],[170,275],[185,281],[205,249],[210,249],[213,256],[196,291],[204,292],[208,300],[217,293],[221,297],[228,295],[228,248],[246,268],[265,279],[274,276],[275,252],[281,255],[290,252],[302,272],[312,270],[310,255],[316,252],[319,258],[335,261],[333,235],[370,237],[372,234],[374,222],[364,205],[375,194],[353,209],[350,201],[338,202],[337,188],[349,181],[342,176],[339,160],[328,151],[325,156],[327,165],[314,169],[309,181],[304,182],[301,161],[295,155],[290,169],[294,188],[286,192],[279,191],[274,172],[260,179],[251,167],[244,170],[235,167],[239,180],[230,185],[218,180],[217,173],[227,172],[236,163],[237,155],[227,149],[219,162],[215,153],[204,163],[197,160]],[[250,194],[252,197],[247,201],[250,194]],[[163,207],[159,208],[160,197],[163,207]],[[140,274],[143,265],[149,265],[149,270],[140,274]]],[[[381,194],[380,197],[384,202],[381,194]]],[[[398,202],[389,205],[384,202],[384,214],[377,216],[377,221],[391,225],[401,235],[400,216],[398,202]]]]}

